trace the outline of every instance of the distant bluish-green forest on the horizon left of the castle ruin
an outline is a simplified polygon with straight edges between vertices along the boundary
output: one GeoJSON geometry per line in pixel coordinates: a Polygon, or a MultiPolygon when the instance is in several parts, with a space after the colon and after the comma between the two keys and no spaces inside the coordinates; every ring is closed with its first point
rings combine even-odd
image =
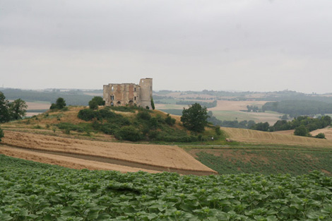
{"type": "MultiPolygon", "coordinates": [[[[18,98],[26,102],[55,102],[58,97],[63,97],[67,105],[86,106],[93,96],[85,95],[81,90],[70,90],[68,92],[59,91],[35,91],[20,89],[4,89],[1,90],[8,100],[16,100],[18,98]]],[[[90,92],[90,91],[89,91],[90,92]]]]}

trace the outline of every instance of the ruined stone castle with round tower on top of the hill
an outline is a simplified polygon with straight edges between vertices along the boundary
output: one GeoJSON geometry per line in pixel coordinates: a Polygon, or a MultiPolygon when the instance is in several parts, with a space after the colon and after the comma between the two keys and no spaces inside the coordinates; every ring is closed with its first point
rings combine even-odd
{"type": "Polygon", "coordinates": [[[109,83],[104,85],[106,106],[151,107],[152,78],[142,78],[139,85],[134,83],[109,83]]]}

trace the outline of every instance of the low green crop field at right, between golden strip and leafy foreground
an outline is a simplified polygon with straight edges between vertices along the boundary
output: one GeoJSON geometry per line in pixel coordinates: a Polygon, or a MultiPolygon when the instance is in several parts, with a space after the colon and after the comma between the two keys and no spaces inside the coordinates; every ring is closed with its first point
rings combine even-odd
{"type": "Polygon", "coordinates": [[[262,173],[292,175],[307,174],[313,170],[332,175],[332,149],[319,148],[232,148],[192,149],[189,151],[204,165],[219,174],[262,173]]]}

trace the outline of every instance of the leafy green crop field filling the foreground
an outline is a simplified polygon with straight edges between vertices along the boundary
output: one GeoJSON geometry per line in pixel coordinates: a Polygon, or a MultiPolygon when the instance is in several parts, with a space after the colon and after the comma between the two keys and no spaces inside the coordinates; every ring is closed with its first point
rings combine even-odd
{"type": "Polygon", "coordinates": [[[0,161],[4,221],[332,219],[332,178],[319,172],[196,177],[0,161]]]}

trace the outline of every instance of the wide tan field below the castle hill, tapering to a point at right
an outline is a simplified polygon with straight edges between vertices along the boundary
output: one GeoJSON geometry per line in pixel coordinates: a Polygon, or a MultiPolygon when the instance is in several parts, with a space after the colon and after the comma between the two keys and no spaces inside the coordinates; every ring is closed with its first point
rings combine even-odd
{"type": "MultiPolygon", "coordinates": [[[[191,157],[181,148],[170,145],[144,145],[134,143],[111,143],[102,141],[86,141],[75,138],[61,138],[17,131],[4,131],[1,143],[11,147],[27,150],[49,151],[58,154],[73,154],[132,162],[163,168],[165,171],[186,171],[192,173],[216,173],[191,157]]],[[[57,159],[57,158],[55,158],[57,159]]],[[[144,167],[143,167],[144,168],[144,167]]],[[[152,169],[154,170],[154,169],[152,169]]]]}

